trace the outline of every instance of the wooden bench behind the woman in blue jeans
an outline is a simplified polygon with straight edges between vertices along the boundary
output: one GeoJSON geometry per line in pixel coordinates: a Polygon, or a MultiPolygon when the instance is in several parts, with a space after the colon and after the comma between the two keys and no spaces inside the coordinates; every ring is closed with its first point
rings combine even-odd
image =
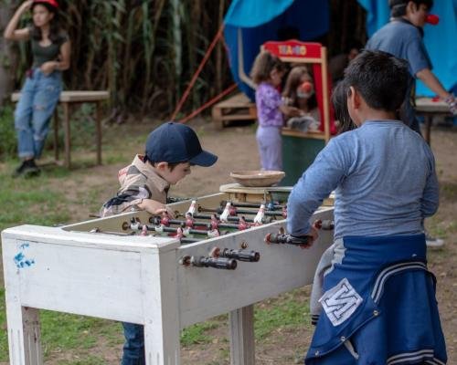
{"type": "MultiPolygon", "coordinates": [[[[12,101],[17,101],[20,98],[20,92],[15,92],[11,95],[12,101]]],[[[101,101],[110,98],[110,92],[107,90],[101,91],[62,91],[58,104],[63,109],[63,129],[64,129],[64,144],[65,144],[65,158],[64,165],[71,166],[70,157],[70,110],[72,104],[80,103],[95,103],[96,116],[95,116],[95,145],[97,153],[97,164],[101,164],[101,101]]],[[[55,159],[58,161],[58,109],[54,112],[54,154],[55,159]]]]}

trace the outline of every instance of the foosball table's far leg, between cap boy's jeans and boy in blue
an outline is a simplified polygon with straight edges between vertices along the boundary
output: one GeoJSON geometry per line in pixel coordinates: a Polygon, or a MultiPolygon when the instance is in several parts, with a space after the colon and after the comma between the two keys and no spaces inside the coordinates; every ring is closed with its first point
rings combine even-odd
{"type": "Polygon", "coordinates": [[[228,314],[230,329],[230,365],[254,365],[254,306],[232,310],[228,314]]]}

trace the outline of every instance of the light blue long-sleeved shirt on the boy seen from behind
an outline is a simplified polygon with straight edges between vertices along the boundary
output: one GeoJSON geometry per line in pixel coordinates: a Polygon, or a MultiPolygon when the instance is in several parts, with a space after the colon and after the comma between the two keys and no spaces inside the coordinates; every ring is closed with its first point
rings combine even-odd
{"type": "Polygon", "coordinates": [[[289,196],[288,232],[307,234],[334,190],[335,238],[419,234],[439,204],[430,147],[398,120],[367,120],[324,147],[289,196]]]}

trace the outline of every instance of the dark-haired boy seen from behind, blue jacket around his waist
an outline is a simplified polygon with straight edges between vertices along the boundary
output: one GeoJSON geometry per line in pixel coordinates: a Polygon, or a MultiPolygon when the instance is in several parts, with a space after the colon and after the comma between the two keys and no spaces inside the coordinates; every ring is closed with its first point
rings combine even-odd
{"type": "Polygon", "coordinates": [[[335,241],[314,276],[316,328],[304,362],[445,364],[422,226],[438,209],[435,161],[420,134],[397,120],[408,64],[366,50],[341,82],[345,102],[338,104],[358,128],[329,141],[287,203],[288,233],[313,239],[309,220],[336,193],[335,241]]]}

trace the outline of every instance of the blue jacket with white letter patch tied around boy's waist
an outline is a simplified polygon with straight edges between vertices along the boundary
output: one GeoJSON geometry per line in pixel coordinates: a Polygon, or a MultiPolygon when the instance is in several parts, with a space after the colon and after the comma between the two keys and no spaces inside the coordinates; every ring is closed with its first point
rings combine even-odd
{"type": "Polygon", "coordinates": [[[424,235],[345,236],[324,276],[307,365],[445,364],[424,235]]]}

